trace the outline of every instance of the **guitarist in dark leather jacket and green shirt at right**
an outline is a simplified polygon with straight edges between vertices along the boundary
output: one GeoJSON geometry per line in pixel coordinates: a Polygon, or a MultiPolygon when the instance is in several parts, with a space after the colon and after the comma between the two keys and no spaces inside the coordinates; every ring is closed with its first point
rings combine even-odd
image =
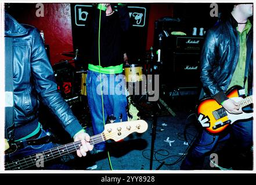
{"type": "MultiPolygon", "coordinates": [[[[225,94],[230,87],[239,85],[244,88],[245,95],[253,94],[253,27],[248,20],[252,15],[253,4],[234,5],[229,17],[207,32],[201,51],[200,78],[204,92],[232,114],[239,114],[241,110],[239,103],[225,94]]],[[[253,145],[253,120],[240,120],[230,129],[240,153],[247,154],[253,145]]],[[[190,148],[181,169],[202,169],[206,154],[214,149],[220,138],[228,136],[214,136],[204,130],[190,148]]],[[[238,161],[233,162],[238,164],[238,161]]],[[[212,166],[210,162],[208,165],[212,166]]]]}

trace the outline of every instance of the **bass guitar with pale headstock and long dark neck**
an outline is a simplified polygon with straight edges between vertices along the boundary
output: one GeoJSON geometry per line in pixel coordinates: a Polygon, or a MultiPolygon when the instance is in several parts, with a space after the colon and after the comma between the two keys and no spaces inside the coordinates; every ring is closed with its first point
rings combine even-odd
{"type": "MultiPolygon", "coordinates": [[[[104,140],[113,139],[118,141],[124,139],[132,132],[143,133],[147,130],[147,123],[144,120],[124,121],[120,123],[110,123],[104,126],[104,131],[98,135],[91,136],[90,143],[95,145],[96,143],[103,142],[104,140]]],[[[6,143],[7,144],[7,143],[6,143]]],[[[53,160],[57,157],[64,156],[78,150],[81,146],[81,141],[68,143],[66,145],[54,147],[49,150],[42,151],[40,156],[44,157],[44,162],[53,160]]],[[[8,146],[7,146],[8,148],[8,146]]],[[[21,158],[20,160],[5,162],[6,170],[19,170],[30,168],[37,165],[38,154],[33,154],[21,158]]]]}

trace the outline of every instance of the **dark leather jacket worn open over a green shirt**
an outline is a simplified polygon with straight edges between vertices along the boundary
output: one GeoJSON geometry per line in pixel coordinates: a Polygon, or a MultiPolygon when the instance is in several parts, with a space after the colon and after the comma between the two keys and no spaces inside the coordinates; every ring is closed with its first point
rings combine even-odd
{"type": "MultiPolygon", "coordinates": [[[[201,82],[205,92],[218,103],[228,99],[225,92],[239,60],[239,35],[233,16],[210,29],[201,51],[201,82]]],[[[253,27],[247,34],[248,92],[253,92],[253,27]]],[[[244,76],[241,76],[244,77],[244,76]]]]}

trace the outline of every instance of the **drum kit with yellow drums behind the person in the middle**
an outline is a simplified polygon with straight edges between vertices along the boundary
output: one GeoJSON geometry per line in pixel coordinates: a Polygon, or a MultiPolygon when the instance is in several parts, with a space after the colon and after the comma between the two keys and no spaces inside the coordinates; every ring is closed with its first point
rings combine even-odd
{"type": "MultiPolygon", "coordinates": [[[[77,67],[77,64],[84,63],[82,61],[81,54],[78,53],[78,50],[75,51],[65,51],[62,53],[65,57],[72,57],[70,60],[61,60],[60,62],[57,62],[53,65],[53,71],[55,73],[55,79],[57,82],[58,89],[60,93],[62,94],[62,97],[67,101],[67,103],[70,105],[70,108],[73,107],[75,109],[74,112],[78,112],[78,115],[76,115],[79,119],[81,117],[80,121],[81,123],[85,124],[89,123],[88,119],[89,117],[89,107],[87,102],[87,93],[86,93],[86,76],[87,76],[87,70],[86,67],[77,67]],[[74,64],[74,65],[72,65],[74,64]],[[79,104],[79,106],[77,106],[79,104]],[[78,108],[77,108],[78,107],[78,108]],[[87,120],[85,118],[88,118],[87,120]]],[[[143,58],[143,62],[130,62],[128,65],[124,65],[123,68],[123,75],[125,76],[126,82],[127,82],[127,91],[128,87],[129,90],[134,91],[134,84],[139,83],[140,85],[147,86],[148,83],[142,83],[145,82],[143,76],[147,75],[154,75],[157,72],[157,67],[155,67],[152,58],[150,56],[150,53],[146,55],[145,58],[143,58]]],[[[151,82],[153,83],[153,82],[151,82]]],[[[133,92],[132,92],[133,93],[133,92]]],[[[131,101],[128,103],[129,106],[132,104],[137,106],[141,102],[143,97],[146,97],[146,103],[147,101],[147,90],[145,88],[145,92],[142,92],[139,95],[131,95],[130,91],[128,91],[128,99],[131,99],[131,101]],[[132,104],[131,104],[132,103],[132,104]]],[[[129,109],[129,108],[128,108],[129,109]]]]}

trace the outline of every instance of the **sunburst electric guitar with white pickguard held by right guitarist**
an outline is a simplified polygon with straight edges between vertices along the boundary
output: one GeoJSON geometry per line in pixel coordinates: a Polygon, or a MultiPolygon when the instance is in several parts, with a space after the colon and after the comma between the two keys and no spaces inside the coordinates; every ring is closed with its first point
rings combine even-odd
{"type": "MultiPolygon", "coordinates": [[[[253,103],[253,96],[239,97],[240,86],[233,86],[226,93],[228,98],[240,103],[240,110],[253,103]]],[[[227,112],[215,99],[205,98],[197,106],[198,121],[210,134],[219,134],[228,125],[237,120],[245,120],[253,117],[253,113],[231,114],[227,112]]]]}

